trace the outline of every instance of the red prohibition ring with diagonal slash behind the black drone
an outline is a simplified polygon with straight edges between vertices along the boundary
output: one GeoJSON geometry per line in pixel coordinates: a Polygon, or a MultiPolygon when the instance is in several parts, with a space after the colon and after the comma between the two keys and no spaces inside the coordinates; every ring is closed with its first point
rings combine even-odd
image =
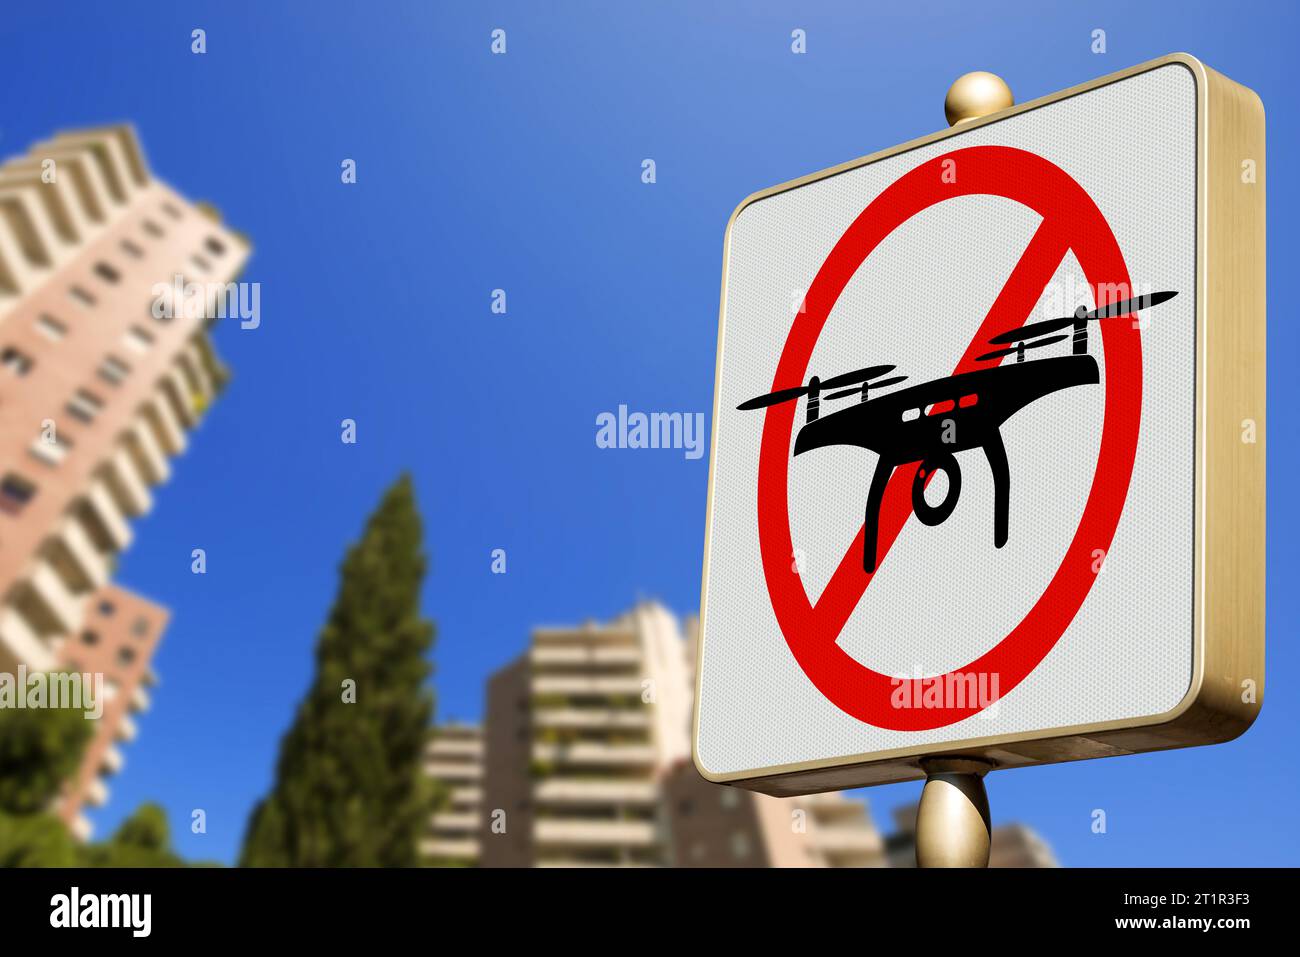
{"type": "MultiPolygon", "coordinates": [[[[1043,221],[1020,256],[954,374],[975,368],[985,341],[1028,317],[1066,251],[1074,251],[1093,290],[1110,283],[1130,287],[1128,269],[1109,224],[1092,198],[1065,170],[1031,152],[980,146],[924,163],[894,181],[840,237],[818,270],[781,351],[772,390],[807,381],[809,360],[831,308],[871,252],[913,216],[957,196],[994,195],[1037,212],[1043,221]],[[953,176],[956,173],[956,182],[953,176]]],[[[1141,337],[1134,322],[1098,322],[1105,350],[1105,413],[1092,488],[1079,528],[1046,590],[997,645],[949,675],[997,675],[1000,696],[1015,688],[1046,657],[1074,620],[1092,583],[1096,550],[1108,551],[1119,524],[1141,419],[1141,337]]],[[[789,463],[796,403],[767,410],[758,463],[758,536],[772,610],[785,641],[809,680],[840,710],[861,722],[893,731],[940,728],[982,710],[965,706],[896,707],[892,697],[920,700],[932,679],[896,679],[859,663],[837,644],[872,575],[862,568],[863,532],[840,560],[822,596],[809,599],[790,555],[789,463]]],[[[896,468],[880,508],[878,570],[911,516],[916,465],[896,468]]],[[[936,599],[942,579],[936,576],[936,599]]],[[[946,675],[942,677],[948,677],[946,675]]],[[[987,679],[985,679],[987,680],[987,679]]],[[[946,703],[946,702],[945,702],[946,703]]]]}

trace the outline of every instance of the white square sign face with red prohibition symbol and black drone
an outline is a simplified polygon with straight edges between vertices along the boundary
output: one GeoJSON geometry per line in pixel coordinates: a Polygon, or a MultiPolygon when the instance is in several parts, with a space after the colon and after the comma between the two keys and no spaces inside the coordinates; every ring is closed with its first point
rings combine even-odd
{"type": "Polygon", "coordinates": [[[1196,122],[1169,64],[737,211],[706,776],[1057,736],[1188,694],[1196,122]]]}

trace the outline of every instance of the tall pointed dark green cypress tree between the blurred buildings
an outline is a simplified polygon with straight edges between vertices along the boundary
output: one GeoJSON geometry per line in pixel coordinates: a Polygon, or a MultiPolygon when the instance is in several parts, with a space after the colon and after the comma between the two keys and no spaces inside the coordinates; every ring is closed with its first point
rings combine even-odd
{"type": "Polygon", "coordinates": [[[433,716],[421,537],[403,476],[343,559],[315,679],[281,741],[274,787],[248,822],[240,866],[417,863],[433,716]]]}

